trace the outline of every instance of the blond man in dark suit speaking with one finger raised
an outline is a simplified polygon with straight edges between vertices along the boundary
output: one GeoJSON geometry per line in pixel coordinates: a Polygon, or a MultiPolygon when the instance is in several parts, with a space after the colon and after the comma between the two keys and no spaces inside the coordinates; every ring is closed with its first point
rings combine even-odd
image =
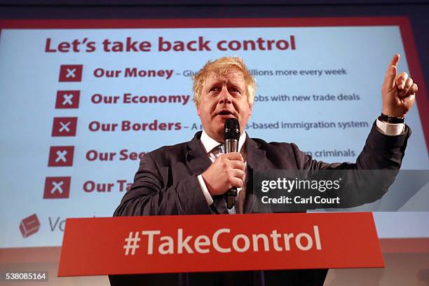
{"type": "MultiPolygon", "coordinates": [[[[207,62],[193,77],[194,102],[203,125],[190,142],[161,147],[142,157],[135,182],[116,216],[160,214],[228,214],[264,212],[252,193],[252,171],[270,169],[399,169],[411,134],[403,119],[417,86],[406,73],[397,75],[400,56],[389,64],[381,88],[382,116],[377,119],[356,163],[313,160],[295,144],[250,139],[244,132],[252,114],[255,81],[239,57],[207,62]],[[226,118],[240,123],[239,152],[222,154],[226,118]],[[383,122],[384,121],[384,122],[383,122]],[[238,202],[227,210],[224,193],[238,188],[238,202]]],[[[383,195],[372,194],[369,200],[383,195]]],[[[364,201],[365,202],[365,201],[364,201]]],[[[362,202],[362,203],[364,203],[362,202]]],[[[240,263],[231,261],[231,263],[240,263]]],[[[130,285],[322,285],[327,269],[311,271],[240,271],[112,276],[111,284],[130,285]]]]}

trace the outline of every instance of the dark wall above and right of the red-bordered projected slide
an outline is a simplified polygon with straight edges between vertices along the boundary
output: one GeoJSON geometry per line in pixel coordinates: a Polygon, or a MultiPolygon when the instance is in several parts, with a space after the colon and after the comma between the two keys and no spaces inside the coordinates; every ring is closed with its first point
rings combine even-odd
{"type": "Polygon", "coordinates": [[[213,18],[215,21],[359,16],[409,17],[423,78],[429,83],[428,0],[0,0],[0,19],[8,20],[213,18]]]}

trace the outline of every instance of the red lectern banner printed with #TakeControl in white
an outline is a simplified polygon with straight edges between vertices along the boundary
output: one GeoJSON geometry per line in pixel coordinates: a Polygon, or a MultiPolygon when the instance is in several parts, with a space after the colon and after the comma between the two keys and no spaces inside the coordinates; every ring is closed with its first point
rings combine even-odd
{"type": "Polygon", "coordinates": [[[58,275],[383,266],[366,212],[114,217],[67,219],[58,275]]]}

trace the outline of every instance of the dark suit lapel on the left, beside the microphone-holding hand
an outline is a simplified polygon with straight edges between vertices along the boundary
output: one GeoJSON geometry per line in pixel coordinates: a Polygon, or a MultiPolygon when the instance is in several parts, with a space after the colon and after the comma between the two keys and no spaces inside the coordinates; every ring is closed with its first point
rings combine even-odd
{"type": "MultiPolygon", "coordinates": [[[[203,144],[200,141],[201,132],[197,132],[191,141],[188,142],[186,152],[186,164],[192,174],[200,175],[210,167],[212,161],[205,153],[203,144]]],[[[228,213],[226,210],[224,196],[213,196],[213,204],[215,211],[219,214],[228,213]]]]}

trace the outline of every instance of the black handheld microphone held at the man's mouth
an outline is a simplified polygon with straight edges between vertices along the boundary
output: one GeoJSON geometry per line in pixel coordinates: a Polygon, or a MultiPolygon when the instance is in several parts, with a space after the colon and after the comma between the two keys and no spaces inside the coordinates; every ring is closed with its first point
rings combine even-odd
{"type": "MultiPolygon", "coordinates": [[[[240,139],[240,123],[236,118],[227,118],[224,124],[225,153],[238,152],[238,139],[240,139]]],[[[237,197],[237,188],[229,189],[224,196],[226,207],[231,210],[237,197]]]]}

